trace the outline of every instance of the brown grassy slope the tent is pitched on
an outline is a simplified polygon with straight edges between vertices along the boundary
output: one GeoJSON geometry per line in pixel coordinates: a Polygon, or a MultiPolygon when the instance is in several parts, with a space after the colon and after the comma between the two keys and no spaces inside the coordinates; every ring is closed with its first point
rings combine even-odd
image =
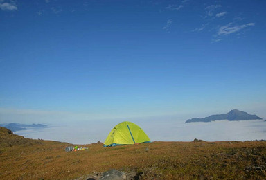
{"type": "MultiPolygon", "coordinates": [[[[2,132],[3,129],[0,129],[2,132]]],[[[266,142],[154,142],[64,152],[69,144],[0,133],[0,179],[75,179],[121,169],[141,179],[265,179],[266,142]],[[10,139],[10,144],[4,143],[10,139]],[[22,143],[19,143],[19,142],[22,143]],[[146,147],[149,150],[146,150],[146,147]]]]}

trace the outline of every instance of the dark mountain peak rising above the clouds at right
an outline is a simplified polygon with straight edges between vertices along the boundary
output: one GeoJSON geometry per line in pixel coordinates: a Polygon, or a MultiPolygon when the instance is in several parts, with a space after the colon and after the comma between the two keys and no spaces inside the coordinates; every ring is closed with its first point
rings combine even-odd
{"type": "Polygon", "coordinates": [[[256,115],[247,114],[247,112],[239,111],[238,109],[233,109],[229,111],[227,114],[215,114],[208,116],[206,118],[192,118],[186,120],[186,123],[194,123],[194,122],[211,122],[214,120],[256,120],[262,119],[256,115]]]}

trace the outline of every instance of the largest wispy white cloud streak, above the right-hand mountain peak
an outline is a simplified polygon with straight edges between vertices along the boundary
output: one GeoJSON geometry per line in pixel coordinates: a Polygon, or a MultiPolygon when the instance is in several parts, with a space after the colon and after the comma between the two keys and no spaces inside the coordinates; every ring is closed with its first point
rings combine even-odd
{"type": "Polygon", "coordinates": [[[229,23],[225,26],[220,27],[217,34],[219,36],[220,35],[229,35],[231,33],[236,33],[239,30],[242,30],[243,28],[247,28],[249,26],[254,26],[254,25],[255,25],[254,23],[248,23],[248,24],[242,24],[239,26],[233,26],[232,23],[229,23]]]}

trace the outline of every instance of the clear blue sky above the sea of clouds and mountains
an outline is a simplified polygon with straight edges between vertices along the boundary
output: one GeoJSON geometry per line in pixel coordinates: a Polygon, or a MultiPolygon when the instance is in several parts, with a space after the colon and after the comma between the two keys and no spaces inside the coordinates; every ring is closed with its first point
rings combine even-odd
{"type": "Polygon", "coordinates": [[[0,120],[266,116],[265,7],[0,0],[0,120]]]}

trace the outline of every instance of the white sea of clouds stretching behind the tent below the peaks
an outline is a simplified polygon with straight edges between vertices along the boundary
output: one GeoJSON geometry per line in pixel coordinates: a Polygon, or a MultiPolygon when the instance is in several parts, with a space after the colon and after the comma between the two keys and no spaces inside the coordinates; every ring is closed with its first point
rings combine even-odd
{"type": "MultiPolygon", "coordinates": [[[[25,138],[41,138],[74,144],[104,142],[112,128],[123,120],[91,120],[42,129],[15,132],[25,138]]],[[[139,125],[151,141],[247,141],[266,137],[265,120],[219,120],[209,123],[184,123],[184,120],[130,120],[139,125]]]]}

